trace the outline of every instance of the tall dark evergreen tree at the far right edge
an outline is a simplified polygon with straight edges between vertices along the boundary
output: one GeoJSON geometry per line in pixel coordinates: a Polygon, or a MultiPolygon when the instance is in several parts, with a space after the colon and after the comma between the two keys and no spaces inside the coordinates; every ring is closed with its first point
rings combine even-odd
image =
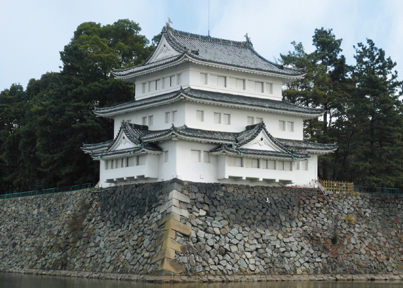
{"type": "Polygon", "coordinates": [[[358,133],[354,142],[356,182],[365,186],[403,187],[402,82],[396,62],[385,57],[374,41],[355,48],[356,83],[351,114],[358,133]]]}

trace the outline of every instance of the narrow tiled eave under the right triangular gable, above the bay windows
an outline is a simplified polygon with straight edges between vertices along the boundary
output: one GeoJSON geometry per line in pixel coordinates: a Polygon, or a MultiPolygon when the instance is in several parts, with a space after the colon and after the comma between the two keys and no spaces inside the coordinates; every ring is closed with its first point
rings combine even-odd
{"type": "Polygon", "coordinates": [[[211,149],[209,152],[220,152],[226,151],[232,154],[238,155],[254,155],[254,156],[267,156],[267,157],[279,157],[279,158],[290,158],[290,159],[300,159],[300,158],[308,158],[308,154],[306,153],[293,153],[287,152],[279,152],[279,151],[267,151],[267,150],[258,150],[258,149],[247,149],[247,148],[232,148],[227,144],[222,144],[214,149],[211,149]]]}

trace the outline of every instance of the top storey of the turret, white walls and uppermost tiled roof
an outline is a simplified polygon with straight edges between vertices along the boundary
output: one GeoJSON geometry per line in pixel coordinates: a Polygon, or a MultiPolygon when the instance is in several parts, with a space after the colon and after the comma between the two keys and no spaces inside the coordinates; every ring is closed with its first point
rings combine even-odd
{"type": "Polygon", "coordinates": [[[136,99],[183,88],[282,100],[282,85],[305,71],[262,58],[246,41],[230,41],[164,27],[143,64],[114,70],[115,78],[136,85],[136,99]]]}

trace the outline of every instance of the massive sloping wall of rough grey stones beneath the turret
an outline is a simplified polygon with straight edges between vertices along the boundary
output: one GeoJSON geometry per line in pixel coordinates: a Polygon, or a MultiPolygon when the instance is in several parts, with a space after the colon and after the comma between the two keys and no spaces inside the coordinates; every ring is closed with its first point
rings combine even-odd
{"type": "Polygon", "coordinates": [[[140,281],[398,279],[402,205],[402,196],[177,179],[0,200],[0,271],[140,281]]]}

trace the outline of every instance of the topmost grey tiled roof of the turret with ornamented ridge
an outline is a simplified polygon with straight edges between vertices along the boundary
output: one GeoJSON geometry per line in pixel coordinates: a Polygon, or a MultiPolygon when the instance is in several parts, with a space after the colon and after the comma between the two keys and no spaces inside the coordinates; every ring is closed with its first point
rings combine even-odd
{"type": "Polygon", "coordinates": [[[190,58],[205,62],[230,65],[233,67],[257,71],[272,72],[286,76],[301,76],[305,74],[304,69],[287,68],[261,57],[253,49],[250,41],[238,42],[224,40],[210,36],[182,32],[166,27],[162,29],[161,37],[162,36],[165,36],[173,49],[180,53],[179,56],[147,64],[148,59],[155,52],[154,50],[150,57],[146,59],[144,64],[132,68],[114,70],[113,74],[116,76],[132,74],[150,67],[155,67],[170,61],[174,61],[181,58],[184,54],[188,55],[190,58]]]}

